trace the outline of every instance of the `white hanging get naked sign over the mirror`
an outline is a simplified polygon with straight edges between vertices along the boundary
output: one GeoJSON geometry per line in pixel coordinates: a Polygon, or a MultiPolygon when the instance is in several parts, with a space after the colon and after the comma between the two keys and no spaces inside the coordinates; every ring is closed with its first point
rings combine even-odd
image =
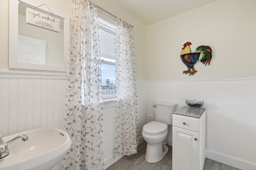
{"type": "Polygon", "coordinates": [[[60,32],[60,19],[30,8],[26,9],[26,23],[55,32],[60,32]]]}

